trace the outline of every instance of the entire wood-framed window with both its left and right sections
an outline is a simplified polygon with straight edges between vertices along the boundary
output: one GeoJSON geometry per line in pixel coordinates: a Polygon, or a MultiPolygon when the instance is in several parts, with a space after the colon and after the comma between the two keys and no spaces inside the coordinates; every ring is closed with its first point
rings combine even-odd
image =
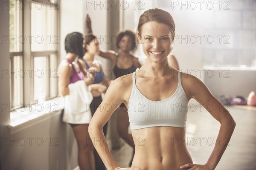
{"type": "Polygon", "coordinates": [[[57,96],[58,1],[10,0],[12,111],[57,96]],[[24,104],[23,104],[24,103],[24,104]]]}

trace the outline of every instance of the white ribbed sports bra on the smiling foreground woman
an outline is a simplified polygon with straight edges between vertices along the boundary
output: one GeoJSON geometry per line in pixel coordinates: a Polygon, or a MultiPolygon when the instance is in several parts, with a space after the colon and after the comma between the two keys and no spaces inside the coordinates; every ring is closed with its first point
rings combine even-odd
{"type": "Polygon", "coordinates": [[[161,101],[152,101],[139,91],[135,73],[132,76],[133,87],[128,103],[131,130],[157,126],[186,127],[188,99],[181,86],[180,71],[175,93],[161,101]]]}

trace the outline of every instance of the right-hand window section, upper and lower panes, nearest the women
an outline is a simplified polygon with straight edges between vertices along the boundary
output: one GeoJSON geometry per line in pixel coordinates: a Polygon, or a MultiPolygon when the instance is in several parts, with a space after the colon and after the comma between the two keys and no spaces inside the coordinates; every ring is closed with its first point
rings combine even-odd
{"type": "Polygon", "coordinates": [[[57,96],[57,14],[55,4],[44,4],[38,8],[32,3],[31,9],[31,54],[34,65],[34,100],[57,96]]]}

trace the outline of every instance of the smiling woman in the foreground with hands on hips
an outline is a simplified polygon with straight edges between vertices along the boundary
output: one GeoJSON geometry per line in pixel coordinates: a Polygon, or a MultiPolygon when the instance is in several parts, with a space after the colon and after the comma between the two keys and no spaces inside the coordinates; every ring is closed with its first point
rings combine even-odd
{"type": "Polygon", "coordinates": [[[114,112],[114,103],[128,107],[135,155],[131,169],[137,170],[213,170],[223,155],[236,122],[223,105],[198,78],[172,68],[167,61],[175,37],[175,23],[163,9],[145,11],[137,27],[137,40],[142,42],[145,64],[127,77],[119,77],[108,88],[102,105],[112,104],[109,111],[97,110],[89,134],[102,145],[94,145],[105,166],[119,168],[113,160],[101,132],[114,112]],[[116,93],[122,91],[122,93],[116,93]],[[188,102],[197,100],[220,122],[215,147],[206,164],[193,164],[186,147],[188,102]],[[208,105],[211,107],[207,107],[208,105]]]}

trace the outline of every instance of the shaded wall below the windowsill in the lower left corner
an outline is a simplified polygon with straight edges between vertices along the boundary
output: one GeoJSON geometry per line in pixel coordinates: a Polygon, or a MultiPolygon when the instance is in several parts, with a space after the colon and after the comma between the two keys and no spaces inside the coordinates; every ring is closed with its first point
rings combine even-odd
{"type": "Polygon", "coordinates": [[[76,140],[71,127],[62,122],[61,117],[57,114],[12,135],[1,136],[1,168],[74,169],[77,166],[76,140]]]}

